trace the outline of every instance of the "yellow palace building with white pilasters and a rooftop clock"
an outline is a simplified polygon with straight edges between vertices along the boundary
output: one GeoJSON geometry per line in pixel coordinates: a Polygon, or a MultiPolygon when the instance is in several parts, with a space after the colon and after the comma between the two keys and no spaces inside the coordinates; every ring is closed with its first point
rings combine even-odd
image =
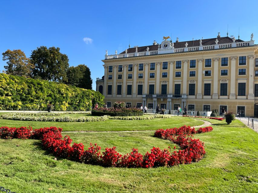
{"type": "Polygon", "coordinates": [[[107,106],[124,101],[131,106],[258,115],[258,46],[235,37],[175,42],[164,37],[149,46],[134,46],[118,54],[106,51],[104,76],[96,90],[107,106]],[[257,104],[257,105],[256,105],[257,104]]]}

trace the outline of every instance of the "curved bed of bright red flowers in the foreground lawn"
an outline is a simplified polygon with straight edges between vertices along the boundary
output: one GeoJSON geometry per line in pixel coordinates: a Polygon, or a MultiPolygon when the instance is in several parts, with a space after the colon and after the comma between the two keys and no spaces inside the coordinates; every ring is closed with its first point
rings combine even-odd
{"type": "MultiPolygon", "coordinates": [[[[168,149],[161,150],[153,147],[151,152],[142,155],[138,149],[132,149],[131,153],[122,156],[116,151],[116,147],[106,148],[101,153],[101,147],[97,144],[90,144],[87,150],[84,150],[82,143],[74,143],[69,136],[64,138],[61,135],[62,128],[50,127],[32,130],[31,127],[20,128],[0,128],[0,138],[2,139],[38,139],[41,140],[44,149],[55,156],[79,161],[82,163],[101,165],[106,167],[131,167],[131,168],[152,168],[158,166],[175,166],[197,162],[205,154],[204,143],[199,139],[192,139],[192,134],[212,131],[212,127],[199,128],[195,131],[190,126],[180,128],[158,129],[154,136],[162,139],[168,139],[178,144],[182,150],[169,152],[168,149]]],[[[170,149],[170,147],[169,147],[170,149]]],[[[174,147],[175,149],[175,147],[174,147]]]]}

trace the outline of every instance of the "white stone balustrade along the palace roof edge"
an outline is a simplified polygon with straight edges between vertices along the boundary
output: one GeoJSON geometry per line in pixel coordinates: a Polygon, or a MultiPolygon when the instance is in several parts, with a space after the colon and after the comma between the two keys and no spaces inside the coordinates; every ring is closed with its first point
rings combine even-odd
{"type": "MultiPolygon", "coordinates": [[[[214,44],[214,45],[208,45],[208,46],[173,48],[173,49],[166,50],[166,53],[195,52],[200,50],[214,50],[214,49],[236,48],[236,47],[245,47],[245,46],[254,46],[254,40],[250,40],[246,42],[214,44]]],[[[105,55],[105,59],[130,58],[130,57],[158,55],[158,54],[164,54],[164,50],[105,55]]]]}

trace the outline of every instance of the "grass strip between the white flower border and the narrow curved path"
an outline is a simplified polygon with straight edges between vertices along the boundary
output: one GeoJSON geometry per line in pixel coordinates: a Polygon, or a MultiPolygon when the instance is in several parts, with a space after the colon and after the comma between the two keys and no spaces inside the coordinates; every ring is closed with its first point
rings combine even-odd
{"type": "Polygon", "coordinates": [[[203,121],[201,120],[186,119],[179,116],[174,116],[169,119],[107,120],[100,122],[35,122],[0,119],[1,126],[21,127],[30,125],[34,129],[56,126],[63,128],[63,131],[144,131],[181,127],[182,125],[195,126],[202,124],[203,121]]]}

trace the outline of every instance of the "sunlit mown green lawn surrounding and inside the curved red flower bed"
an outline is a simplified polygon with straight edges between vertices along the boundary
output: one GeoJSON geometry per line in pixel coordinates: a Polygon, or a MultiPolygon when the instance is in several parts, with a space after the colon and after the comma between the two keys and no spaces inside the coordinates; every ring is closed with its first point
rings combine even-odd
{"type": "MultiPolygon", "coordinates": [[[[157,128],[169,128],[193,121],[191,118],[175,118],[175,120],[158,119],[153,125],[157,128]],[[165,122],[161,124],[173,122],[173,125],[168,127],[170,125],[168,123],[163,127],[160,124],[163,120],[165,122]]],[[[54,160],[54,156],[42,150],[38,140],[0,140],[0,186],[9,188],[11,191],[26,193],[258,192],[258,134],[238,120],[230,125],[225,121],[204,120],[214,124],[213,131],[194,135],[194,138],[200,138],[205,143],[207,153],[204,158],[198,163],[170,168],[104,168],[65,159],[54,160]],[[20,146],[17,147],[17,144],[20,146]]],[[[18,123],[19,121],[2,119],[0,121],[0,125],[21,124],[18,123]],[[8,122],[3,124],[2,121],[8,122]]],[[[153,127],[151,121],[146,121],[145,124],[153,127]]],[[[83,124],[92,127],[92,130],[100,130],[100,128],[120,130],[119,125],[124,128],[126,123],[129,124],[128,128],[139,130],[144,121],[123,123],[120,120],[118,122],[109,120],[108,122],[105,129],[104,125],[95,127],[100,122],[83,124]]],[[[41,122],[43,123],[46,122],[41,122]]],[[[39,125],[34,125],[34,128],[38,128],[39,125]]],[[[79,125],[77,128],[80,128],[79,125]]],[[[82,142],[86,148],[92,142],[98,143],[103,149],[116,146],[120,153],[127,153],[132,147],[145,153],[153,146],[161,148],[174,146],[170,141],[154,138],[154,131],[66,134],[70,135],[73,142],[82,142]]]]}

